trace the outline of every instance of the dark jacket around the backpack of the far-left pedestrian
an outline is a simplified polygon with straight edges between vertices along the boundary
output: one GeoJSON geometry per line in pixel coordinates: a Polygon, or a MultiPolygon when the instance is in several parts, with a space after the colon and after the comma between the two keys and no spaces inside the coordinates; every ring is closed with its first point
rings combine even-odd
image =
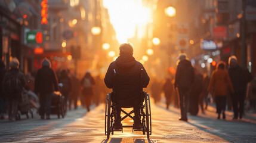
{"type": "Polygon", "coordinates": [[[4,91],[4,95],[7,97],[7,99],[9,100],[21,100],[21,93],[22,93],[22,89],[25,87],[26,85],[26,80],[25,80],[25,76],[24,74],[16,69],[10,69],[9,71],[7,71],[7,73],[5,73],[3,82],[2,82],[2,87],[3,87],[3,91],[4,91]],[[5,89],[7,89],[7,87],[5,87],[5,85],[7,85],[7,81],[8,79],[10,79],[11,76],[15,76],[16,78],[20,79],[20,83],[21,83],[21,90],[17,93],[13,93],[11,95],[8,95],[8,91],[6,91],[5,89]]]}

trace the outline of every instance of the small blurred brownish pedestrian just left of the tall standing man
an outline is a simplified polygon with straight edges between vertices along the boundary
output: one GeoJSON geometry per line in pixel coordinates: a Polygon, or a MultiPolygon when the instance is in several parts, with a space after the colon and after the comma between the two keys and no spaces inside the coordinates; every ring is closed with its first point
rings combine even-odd
{"type": "Polygon", "coordinates": [[[171,97],[172,97],[172,93],[173,93],[173,85],[171,83],[170,78],[166,79],[162,89],[164,90],[164,93],[165,93],[166,109],[168,109],[169,104],[171,104],[171,97]]]}

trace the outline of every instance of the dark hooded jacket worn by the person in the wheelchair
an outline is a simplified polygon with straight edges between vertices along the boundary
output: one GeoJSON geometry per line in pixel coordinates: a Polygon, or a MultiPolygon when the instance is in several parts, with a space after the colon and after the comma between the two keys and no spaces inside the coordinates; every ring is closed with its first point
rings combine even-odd
{"type": "Polygon", "coordinates": [[[141,101],[141,86],[143,88],[147,87],[149,76],[140,62],[136,61],[131,55],[124,54],[110,64],[104,82],[107,88],[114,88],[118,103],[123,107],[128,107],[141,101]],[[114,69],[116,71],[115,77],[114,69]],[[141,69],[143,70],[141,71],[141,69]],[[140,78],[141,72],[142,79],[140,78]]]}

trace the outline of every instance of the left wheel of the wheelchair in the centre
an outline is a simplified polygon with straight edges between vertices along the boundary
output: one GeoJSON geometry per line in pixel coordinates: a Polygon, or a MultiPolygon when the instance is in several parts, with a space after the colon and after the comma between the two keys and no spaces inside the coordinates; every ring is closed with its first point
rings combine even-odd
{"type": "Polygon", "coordinates": [[[111,94],[107,95],[106,108],[105,108],[105,135],[107,138],[110,136],[110,105],[111,105],[111,94]]]}

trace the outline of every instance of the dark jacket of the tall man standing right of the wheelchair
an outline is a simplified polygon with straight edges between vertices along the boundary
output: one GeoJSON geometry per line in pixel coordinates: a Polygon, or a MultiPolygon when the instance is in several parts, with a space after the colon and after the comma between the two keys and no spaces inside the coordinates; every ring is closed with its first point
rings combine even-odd
{"type": "Polygon", "coordinates": [[[190,86],[194,82],[195,72],[188,60],[181,60],[178,63],[177,71],[175,75],[175,87],[181,90],[189,90],[190,86]]]}

